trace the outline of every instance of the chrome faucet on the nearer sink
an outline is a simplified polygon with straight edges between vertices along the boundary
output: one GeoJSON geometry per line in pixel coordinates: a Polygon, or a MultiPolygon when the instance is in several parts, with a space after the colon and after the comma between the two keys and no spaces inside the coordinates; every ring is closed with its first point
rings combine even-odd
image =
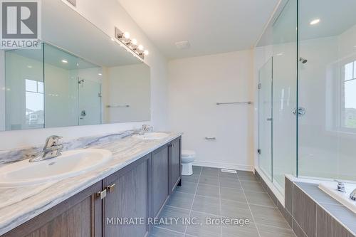
{"type": "Polygon", "coordinates": [[[40,162],[41,160],[59,157],[63,150],[63,144],[58,144],[60,136],[50,136],[46,139],[41,155],[33,157],[29,162],[40,162]]]}

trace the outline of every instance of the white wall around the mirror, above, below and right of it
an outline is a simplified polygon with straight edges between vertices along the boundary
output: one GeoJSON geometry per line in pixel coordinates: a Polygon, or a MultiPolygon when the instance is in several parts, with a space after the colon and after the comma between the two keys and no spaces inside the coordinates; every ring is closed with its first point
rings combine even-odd
{"type": "MultiPolygon", "coordinates": [[[[57,1],[57,0],[46,0],[57,1]]],[[[105,33],[114,36],[114,27],[130,31],[150,51],[145,63],[151,67],[151,123],[157,130],[167,130],[167,61],[139,26],[116,0],[77,0],[78,11],[86,19],[101,28],[105,33]]],[[[118,130],[140,127],[142,122],[131,122],[112,125],[92,125],[80,127],[48,128],[43,130],[26,130],[0,132],[0,150],[22,147],[33,144],[43,144],[48,135],[58,134],[66,139],[98,135],[118,130]]]]}

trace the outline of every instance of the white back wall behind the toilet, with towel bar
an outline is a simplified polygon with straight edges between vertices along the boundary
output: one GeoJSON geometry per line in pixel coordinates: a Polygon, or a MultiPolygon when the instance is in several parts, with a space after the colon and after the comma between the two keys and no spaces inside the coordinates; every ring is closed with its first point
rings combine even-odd
{"type": "Polygon", "coordinates": [[[216,105],[253,100],[252,51],[171,60],[168,68],[169,128],[184,132],[183,149],[197,152],[197,164],[252,169],[253,106],[216,105]]]}

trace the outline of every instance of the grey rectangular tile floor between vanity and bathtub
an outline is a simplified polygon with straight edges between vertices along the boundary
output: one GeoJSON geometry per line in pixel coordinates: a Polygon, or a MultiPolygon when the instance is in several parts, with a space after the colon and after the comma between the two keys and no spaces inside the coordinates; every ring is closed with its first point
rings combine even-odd
{"type": "Polygon", "coordinates": [[[194,167],[194,174],[182,178],[182,186],[174,191],[159,217],[181,219],[155,226],[151,237],[295,237],[252,172],[231,174],[194,167]],[[182,223],[189,218],[201,224],[182,223]],[[250,223],[208,225],[206,218],[248,218],[250,223]]]}

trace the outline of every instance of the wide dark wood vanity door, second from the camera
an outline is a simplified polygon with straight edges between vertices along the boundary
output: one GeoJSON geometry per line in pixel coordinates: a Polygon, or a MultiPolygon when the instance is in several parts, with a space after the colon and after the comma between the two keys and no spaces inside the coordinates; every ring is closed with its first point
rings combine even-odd
{"type": "Polygon", "coordinates": [[[105,186],[115,185],[107,189],[104,200],[105,237],[144,237],[147,234],[149,158],[147,155],[105,179],[105,186]]]}

